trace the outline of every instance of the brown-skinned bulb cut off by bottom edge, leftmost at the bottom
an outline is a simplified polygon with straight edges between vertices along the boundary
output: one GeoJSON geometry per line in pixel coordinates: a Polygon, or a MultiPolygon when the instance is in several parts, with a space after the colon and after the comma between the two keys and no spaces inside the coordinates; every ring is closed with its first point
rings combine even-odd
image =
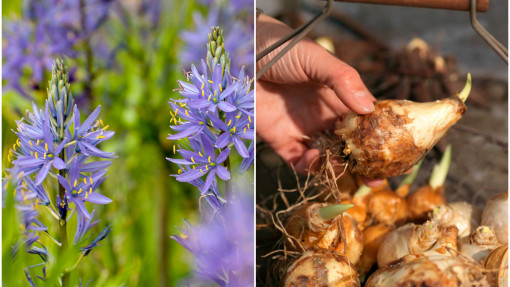
{"type": "Polygon", "coordinates": [[[359,287],[358,273],[349,259],[327,250],[308,251],[288,268],[282,287],[359,287]]]}

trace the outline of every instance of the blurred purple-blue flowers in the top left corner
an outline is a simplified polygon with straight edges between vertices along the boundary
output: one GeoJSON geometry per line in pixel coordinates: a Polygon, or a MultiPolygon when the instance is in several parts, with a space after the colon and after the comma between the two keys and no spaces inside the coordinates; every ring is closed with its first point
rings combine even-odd
{"type": "Polygon", "coordinates": [[[105,22],[113,1],[26,1],[21,19],[4,20],[3,24],[2,76],[6,87],[29,98],[24,88],[27,85],[22,83],[25,71],[31,72],[28,84],[37,86],[57,55],[78,57],[78,44],[105,22]]]}

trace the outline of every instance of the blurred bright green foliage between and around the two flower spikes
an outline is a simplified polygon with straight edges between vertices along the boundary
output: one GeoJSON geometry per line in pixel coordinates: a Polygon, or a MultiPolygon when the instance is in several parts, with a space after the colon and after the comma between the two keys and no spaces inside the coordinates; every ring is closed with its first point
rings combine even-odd
{"type": "MultiPolygon", "coordinates": [[[[4,19],[21,13],[20,2],[2,1],[4,19]]],[[[128,10],[137,2],[122,1],[128,10]]],[[[199,191],[189,184],[179,184],[170,176],[177,169],[165,159],[172,156],[174,144],[166,137],[171,132],[168,101],[179,96],[173,90],[179,88],[178,79],[186,79],[183,70],[189,70],[179,63],[179,51],[185,48],[179,32],[193,29],[192,12],[197,9],[203,12],[205,8],[196,1],[162,1],[160,9],[156,29],[147,27],[147,22],[136,15],[129,18],[127,25],[112,16],[98,32],[107,35],[108,41],[121,45],[117,46],[111,66],[102,66],[99,61],[94,64],[90,100],[78,99],[78,104],[82,115],[101,105],[99,118],[110,126],[109,130],[116,132],[101,145],[102,150],[118,156],[100,187],[100,193],[113,202],[104,206],[87,204],[90,211],[96,209],[95,218],[101,219],[91,232],[97,235],[107,224],[111,224],[113,231],[81,262],[78,272],[73,272],[72,286],[78,284],[78,278],[83,286],[89,280],[88,286],[177,286],[191,274],[190,254],[169,236],[178,233],[176,226],[182,226],[184,218],[191,223],[199,222],[199,191]]],[[[86,89],[83,84],[87,77],[86,59],[65,60],[71,70],[76,69],[71,91],[77,97],[86,89]]],[[[46,73],[43,86],[31,93],[39,108],[44,106],[49,77],[46,73]]],[[[27,109],[31,109],[31,100],[12,90],[4,91],[2,170],[10,166],[7,154],[16,140],[12,132],[16,129],[15,120],[23,117],[27,109]]],[[[8,252],[20,231],[12,196],[7,194],[4,199],[3,286],[28,286],[24,261],[36,264],[41,260],[24,252],[18,252],[14,262],[9,258],[8,252]]],[[[40,209],[40,214],[47,216],[43,222],[54,222],[45,210],[40,209]]],[[[55,224],[47,226],[50,233],[58,234],[55,224]]],[[[75,215],[68,226],[72,226],[68,236],[74,236],[75,215]]],[[[47,237],[42,236],[41,242],[50,252],[55,249],[47,237]]],[[[51,270],[58,272],[58,267],[53,266],[51,270]]],[[[41,268],[31,271],[38,286],[42,281],[34,274],[40,271],[41,268]]]]}

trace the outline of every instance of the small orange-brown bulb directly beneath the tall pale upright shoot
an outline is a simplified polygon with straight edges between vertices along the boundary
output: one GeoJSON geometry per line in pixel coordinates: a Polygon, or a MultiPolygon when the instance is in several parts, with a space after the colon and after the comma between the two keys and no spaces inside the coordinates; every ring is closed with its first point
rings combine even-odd
{"type": "Polygon", "coordinates": [[[434,189],[429,185],[425,185],[409,194],[406,199],[409,219],[416,223],[427,220],[429,212],[431,212],[434,207],[440,204],[446,204],[443,191],[444,187],[434,189]]]}

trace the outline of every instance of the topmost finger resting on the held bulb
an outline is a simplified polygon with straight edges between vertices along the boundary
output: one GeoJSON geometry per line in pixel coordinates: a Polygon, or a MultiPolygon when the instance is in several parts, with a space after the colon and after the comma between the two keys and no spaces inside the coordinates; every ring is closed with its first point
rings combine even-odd
{"type": "Polygon", "coordinates": [[[375,99],[361,81],[359,73],[326,50],[322,48],[315,50],[316,53],[306,53],[303,56],[310,57],[308,64],[303,68],[312,80],[333,89],[340,100],[354,112],[358,114],[372,112],[375,99]]]}

